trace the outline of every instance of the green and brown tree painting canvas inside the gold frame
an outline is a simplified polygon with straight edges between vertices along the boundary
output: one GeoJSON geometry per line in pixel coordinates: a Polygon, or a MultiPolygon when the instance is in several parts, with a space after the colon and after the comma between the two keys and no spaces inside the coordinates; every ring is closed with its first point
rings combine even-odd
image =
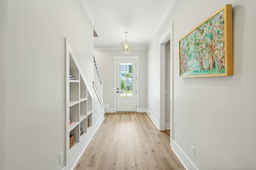
{"type": "Polygon", "coordinates": [[[224,73],[224,10],[179,42],[180,76],[224,73]]]}

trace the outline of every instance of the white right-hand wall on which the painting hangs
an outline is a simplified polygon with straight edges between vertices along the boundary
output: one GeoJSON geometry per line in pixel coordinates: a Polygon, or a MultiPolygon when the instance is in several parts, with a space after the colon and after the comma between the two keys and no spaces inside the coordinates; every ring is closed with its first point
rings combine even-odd
{"type": "Polygon", "coordinates": [[[148,48],[148,108],[159,120],[159,93],[150,92],[159,89],[159,39],[174,24],[171,145],[188,169],[256,169],[255,16],[254,0],[178,0],[148,48]],[[179,78],[179,39],[225,4],[233,4],[234,76],[179,78]]]}

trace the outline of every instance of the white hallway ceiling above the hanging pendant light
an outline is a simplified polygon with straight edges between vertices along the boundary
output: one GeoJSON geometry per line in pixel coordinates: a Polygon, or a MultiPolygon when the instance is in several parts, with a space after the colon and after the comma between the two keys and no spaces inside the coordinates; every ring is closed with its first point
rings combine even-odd
{"type": "Polygon", "coordinates": [[[147,49],[177,0],[80,0],[98,37],[94,49],[147,49]]]}

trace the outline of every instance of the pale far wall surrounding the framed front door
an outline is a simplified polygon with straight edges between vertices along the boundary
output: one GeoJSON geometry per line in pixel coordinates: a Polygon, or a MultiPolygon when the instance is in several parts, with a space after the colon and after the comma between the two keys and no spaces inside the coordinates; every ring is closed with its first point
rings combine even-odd
{"type": "Polygon", "coordinates": [[[139,57],[139,106],[147,108],[147,57],[146,50],[132,50],[129,55],[124,55],[121,50],[94,50],[94,57],[103,80],[103,102],[109,104],[108,110],[114,110],[114,56],[139,57]]]}

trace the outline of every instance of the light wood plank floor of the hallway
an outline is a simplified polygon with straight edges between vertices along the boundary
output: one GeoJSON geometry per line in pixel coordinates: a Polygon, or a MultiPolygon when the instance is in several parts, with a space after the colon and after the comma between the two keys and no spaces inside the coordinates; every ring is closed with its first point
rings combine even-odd
{"type": "Polygon", "coordinates": [[[146,113],[106,113],[74,170],[185,170],[146,113]]]}

